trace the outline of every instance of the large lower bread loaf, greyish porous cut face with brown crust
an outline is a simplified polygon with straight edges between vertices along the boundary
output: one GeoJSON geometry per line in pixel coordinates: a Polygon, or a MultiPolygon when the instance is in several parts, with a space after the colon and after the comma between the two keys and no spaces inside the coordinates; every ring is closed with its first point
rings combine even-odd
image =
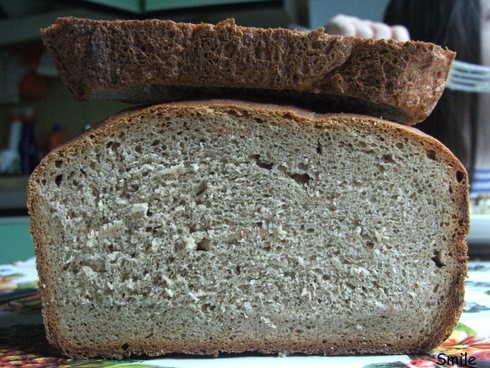
{"type": "Polygon", "coordinates": [[[463,301],[467,177],[360,115],[157,105],[29,182],[44,318],[71,356],[414,353],[463,301]]]}

